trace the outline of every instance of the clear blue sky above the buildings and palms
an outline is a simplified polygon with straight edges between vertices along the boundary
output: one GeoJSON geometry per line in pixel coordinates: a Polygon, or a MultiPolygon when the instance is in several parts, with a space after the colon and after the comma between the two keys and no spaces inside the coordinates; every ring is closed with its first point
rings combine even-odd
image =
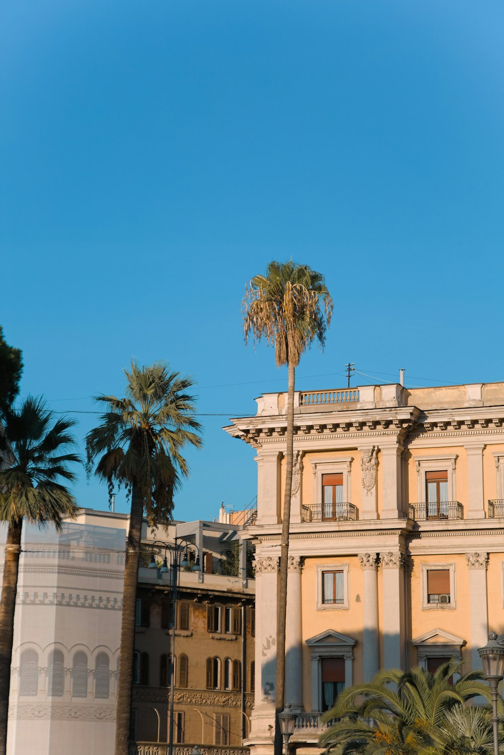
{"type": "MultiPolygon", "coordinates": [[[[503,22],[474,0],[8,0],[0,322],[21,394],[93,411],[131,356],[193,374],[223,416],[201,418],[175,516],[212,519],[255,495],[221,426],[286,384],[241,327],[273,258],[335,300],[298,387],[341,387],[348,361],[504,379],[503,22]]],[[[95,418],[75,417],[82,439],[95,418]]],[[[107,506],[83,472],[76,492],[107,506]]]]}

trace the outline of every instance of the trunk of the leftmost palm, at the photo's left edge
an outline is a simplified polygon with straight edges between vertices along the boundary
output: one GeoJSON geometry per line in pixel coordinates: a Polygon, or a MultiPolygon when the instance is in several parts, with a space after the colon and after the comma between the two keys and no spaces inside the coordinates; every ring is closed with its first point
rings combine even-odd
{"type": "Polygon", "coordinates": [[[23,519],[11,523],[5,544],[2,602],[0,603],[0,755],[7,752],[7,720],[11,686],[14,611],[16,609],[17,573],[21,551],[23,519]]]}

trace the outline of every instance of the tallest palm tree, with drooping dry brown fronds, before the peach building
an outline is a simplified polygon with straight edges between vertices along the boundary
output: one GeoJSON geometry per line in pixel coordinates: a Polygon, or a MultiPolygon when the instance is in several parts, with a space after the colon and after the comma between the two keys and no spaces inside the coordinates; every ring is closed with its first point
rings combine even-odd
{"type": "MultiPolygon", "coordinates": [[[[274,345],[277,367],[287,365],[286,482],[283,495],[280,542],[280,586],[277,607],[277,713],[283,709],[285,686],[285,630],[287,599],[287,556],[292,495],[294,443],[295,368],[301,354],[317,339],[323,347],[326,327],[332,316],[332,299],[321,273],[308,265],[271,262],[265,276],[255,276],[243,297],[243,329],[255,341],[262,337],[274,345]],[[322,305],[322,308],[321,308],[322,305]]],[[[280,738],[277,737],[277,741],[280,738]]]]}

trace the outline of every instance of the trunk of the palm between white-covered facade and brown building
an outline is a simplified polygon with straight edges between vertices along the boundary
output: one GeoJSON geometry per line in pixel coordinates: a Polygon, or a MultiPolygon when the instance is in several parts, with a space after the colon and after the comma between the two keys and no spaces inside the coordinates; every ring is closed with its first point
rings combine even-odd
{"type": "Polygon", "coordinates": [[[131,721],[131,688],[133,685],[133,651],[135,649],[135,601],[137,597],[138,562],[144,499],[138,485],[132,485],[131,513],[122,592],[121,646],[119,648],[119,680],[116,700],[115,755],[128,755],[131,721]]]}

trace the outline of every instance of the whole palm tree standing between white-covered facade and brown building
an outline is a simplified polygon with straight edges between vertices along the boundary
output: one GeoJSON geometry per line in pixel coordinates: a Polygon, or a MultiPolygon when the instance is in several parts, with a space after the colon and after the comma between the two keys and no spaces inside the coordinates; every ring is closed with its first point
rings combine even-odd
{"type": "Polygon", "coordinates": [[[100,425],[86,436],[88,473],[97,462],[95,473],[107,482],[109,492],[115,483],[131,494],[116,700],[116,755],[128,755],[142,519],[145,513],[151,526],[168,524],[173,493],[181,476],[189,474],[181,449],[186,443],[196,448],[202,444],[194,399],[186,393],[193,385],[190,377],[170,371],[165,362],[140,367],[132,360],[131,369],[124,372],[125,398],[97,396],[106,411],[100,425]]]}

